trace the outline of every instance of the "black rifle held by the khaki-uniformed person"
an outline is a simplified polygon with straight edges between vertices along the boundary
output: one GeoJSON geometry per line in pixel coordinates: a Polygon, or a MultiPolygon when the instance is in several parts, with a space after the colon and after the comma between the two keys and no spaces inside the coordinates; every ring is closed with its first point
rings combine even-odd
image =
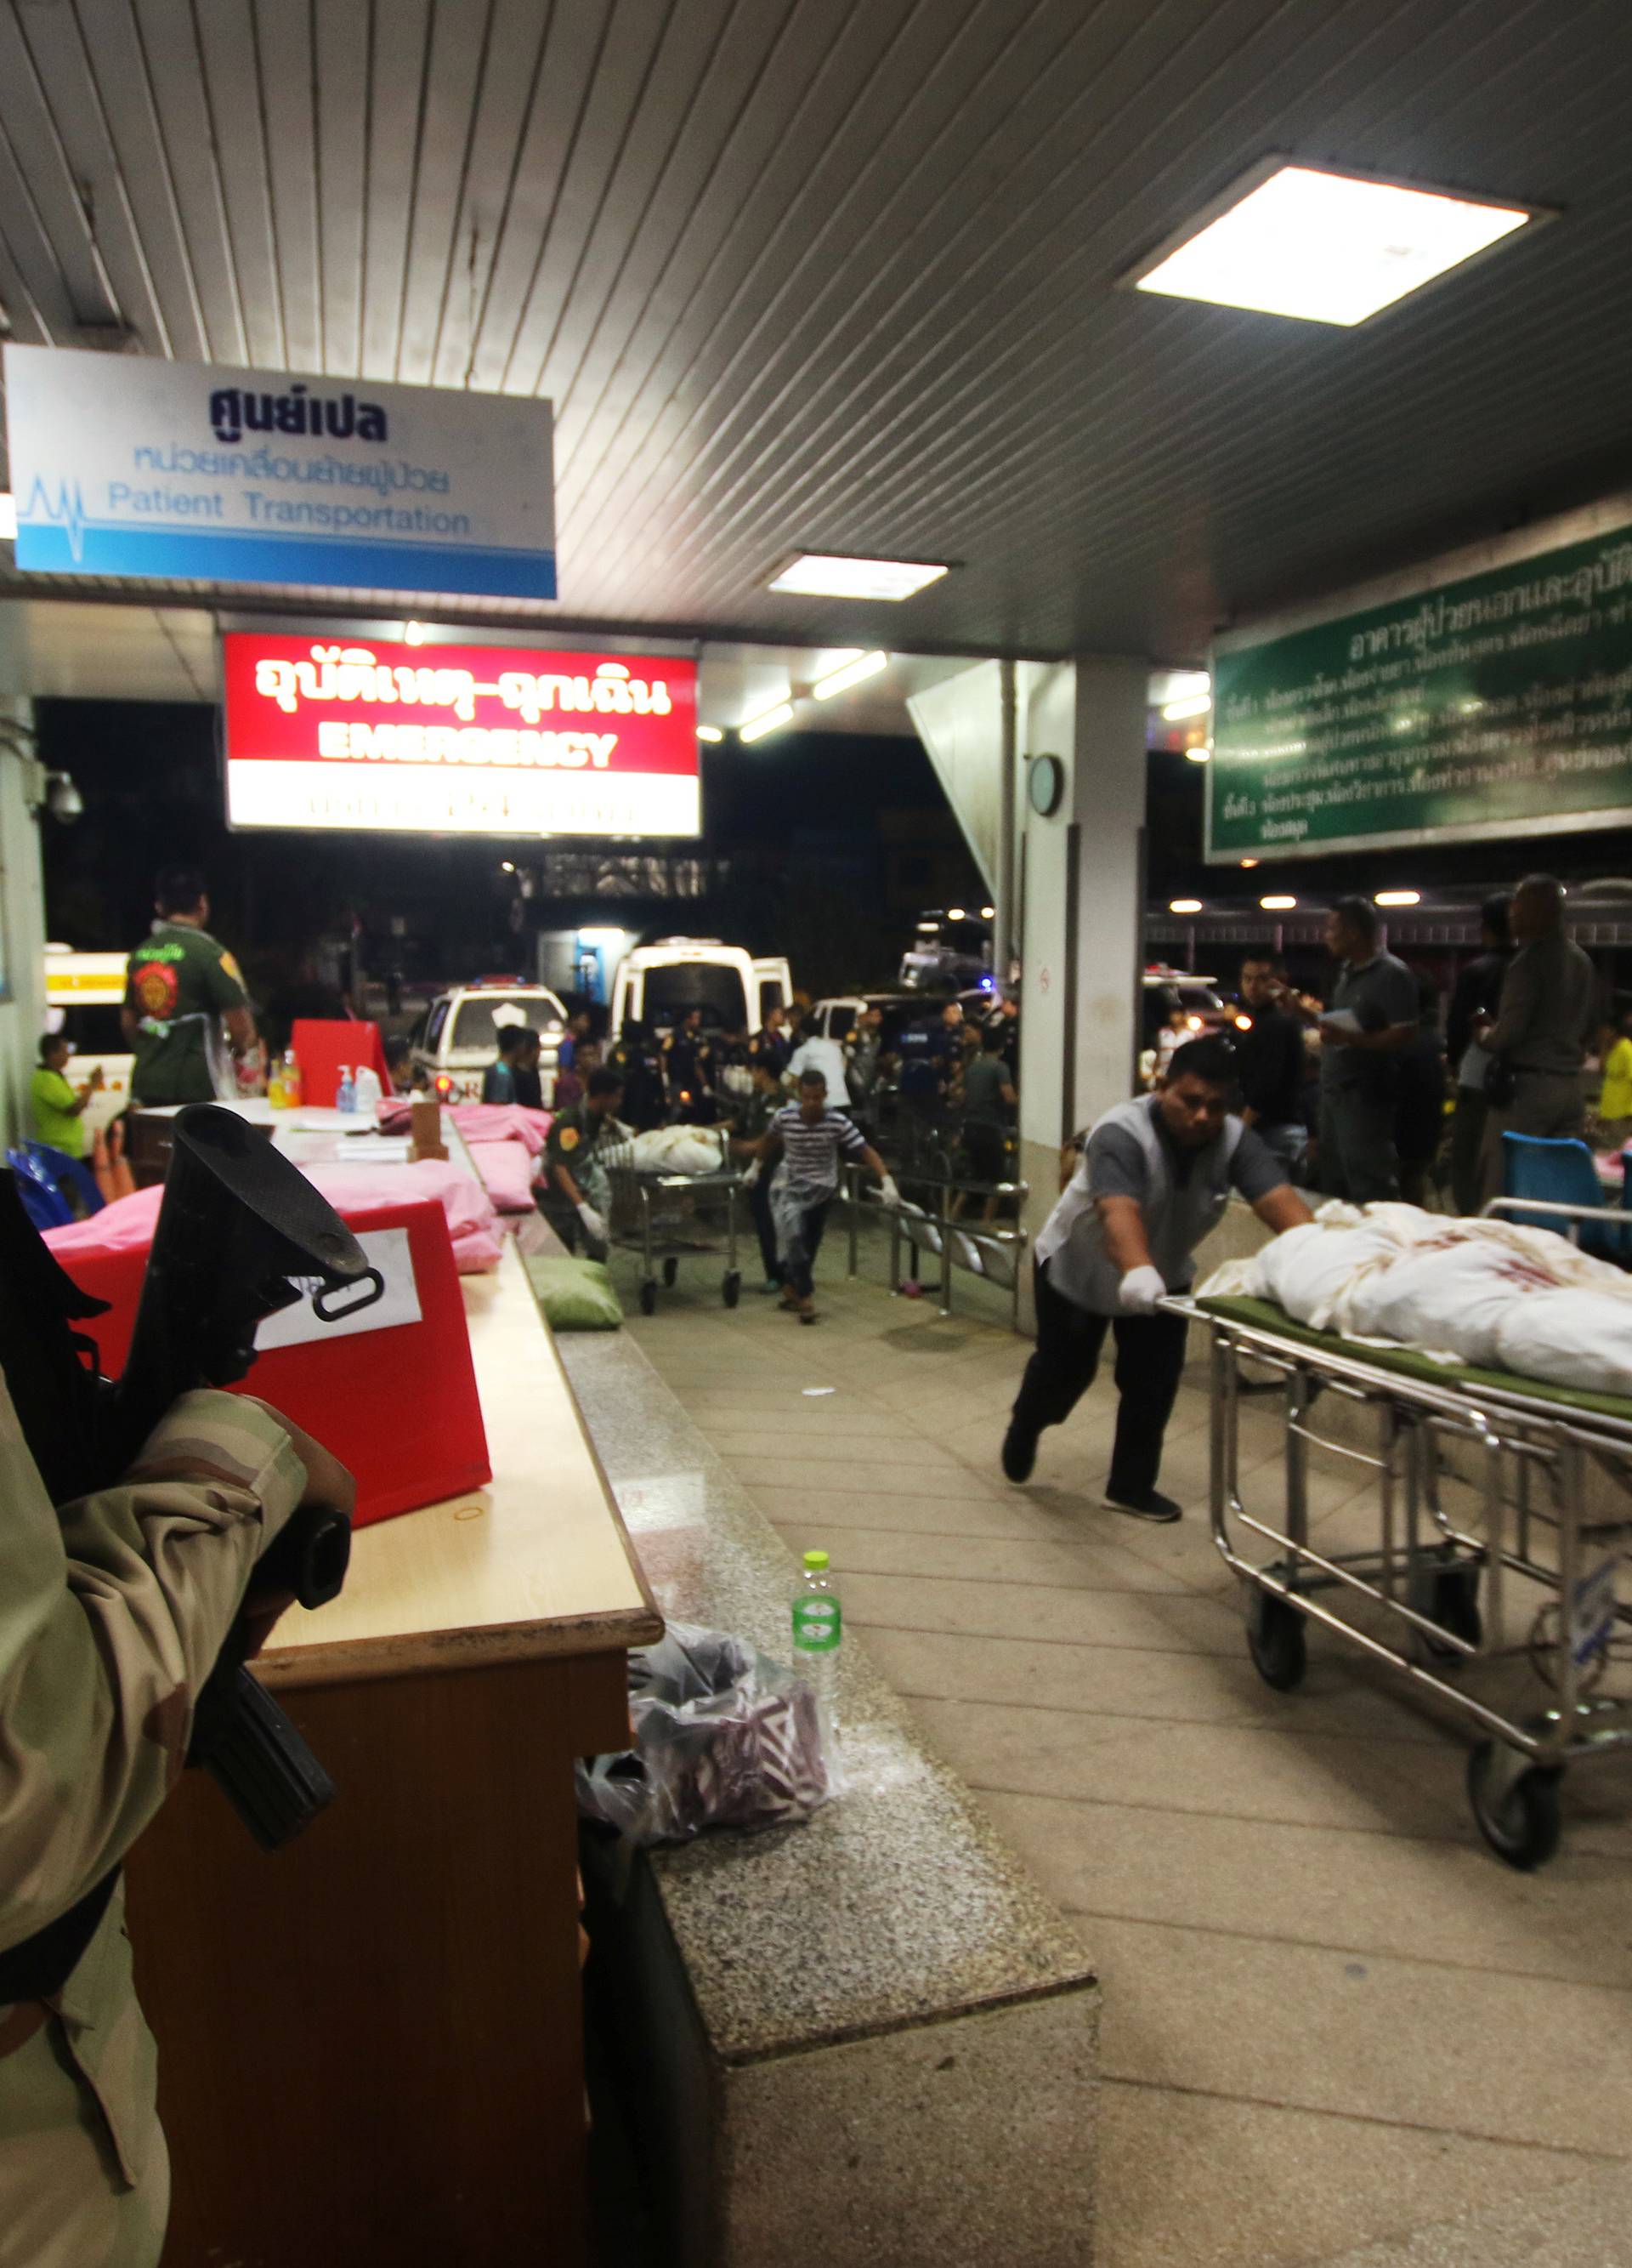
{"type": "MultiPolygon", "coordinates": [[[[54,1504],[111,1488],[177,1395],[243,1379],[267,1315],[313,1293],[317,1318],[338,1322],[383,1288],[326,1198],[233,1111],[197,1102],[175,1123],[129,1359],[109,1383],[73,1329],[107,1302],[63,1275],[0,1175],[0,1368],[54,1504]]],[[[349,1551],[347,1515],[304,1506],[261,1554],[252,1590],[324,1606],[349,1551]]],[[[188,1765],[204,1765],[261,1848],[277,1851],[333,1799],[333,1780],[249,1674],[252,1649],[245,1610],[197,1696],[188,1765]]]]}

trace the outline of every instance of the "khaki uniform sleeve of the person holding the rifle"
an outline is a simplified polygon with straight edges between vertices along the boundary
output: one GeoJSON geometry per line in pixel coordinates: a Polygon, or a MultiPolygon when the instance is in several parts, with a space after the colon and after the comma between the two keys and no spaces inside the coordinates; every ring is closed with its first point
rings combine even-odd
{"type": "Polygon", "coordinates": [[[267,1411],[193,1393],[118,1488],[57,1513],[0,1383],[0,1948],[82,1898],[163,1803],[304,1488],[267,1411]]]}

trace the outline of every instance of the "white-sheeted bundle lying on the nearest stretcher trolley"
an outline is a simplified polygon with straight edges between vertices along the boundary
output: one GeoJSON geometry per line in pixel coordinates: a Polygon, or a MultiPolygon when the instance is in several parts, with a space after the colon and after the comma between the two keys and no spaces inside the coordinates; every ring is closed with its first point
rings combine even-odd
{"type": "Polygon", "coordinates": [[[1360,1345],[1632,1395],[1632,1277],[1553,1229],[1333,1202],[1197,1297],[1269,1300],[1360,1345]]]}

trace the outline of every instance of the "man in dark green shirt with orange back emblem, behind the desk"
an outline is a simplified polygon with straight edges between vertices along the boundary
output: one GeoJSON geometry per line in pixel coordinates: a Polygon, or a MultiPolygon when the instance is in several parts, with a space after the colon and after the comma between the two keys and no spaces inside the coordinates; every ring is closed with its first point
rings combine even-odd
{"type": "Polygon", "coordinates": [[[236,1057],[256,1043],[243,971],[204,930],[209,898],[195,866],[165,866],[159,919],[129,957],[120,1021],[136,1057],[131,1102],[213,1102],[231,1091],[220,1025],[236,1057]]]}

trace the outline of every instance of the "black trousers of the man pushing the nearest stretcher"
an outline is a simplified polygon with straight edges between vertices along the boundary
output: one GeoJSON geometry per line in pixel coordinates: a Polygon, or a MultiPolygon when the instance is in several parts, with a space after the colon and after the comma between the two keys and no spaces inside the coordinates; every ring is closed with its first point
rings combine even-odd
{"type": "Polygon", "coordinates": [[[1183,1315],[1093,1315],[1054,1290],[1047,1261],[1036,1263],[1036,1354],[1025,1368],[1013,1420],[1031,1431],[1065,1424],[1099,1370],[1106,1331],[1115,1331],[1117,1429],[1111,1449],[1111,1495],[1138,1504],[1156,1488],[1163,1433],[1183,1377],[1183,1315]]]}

